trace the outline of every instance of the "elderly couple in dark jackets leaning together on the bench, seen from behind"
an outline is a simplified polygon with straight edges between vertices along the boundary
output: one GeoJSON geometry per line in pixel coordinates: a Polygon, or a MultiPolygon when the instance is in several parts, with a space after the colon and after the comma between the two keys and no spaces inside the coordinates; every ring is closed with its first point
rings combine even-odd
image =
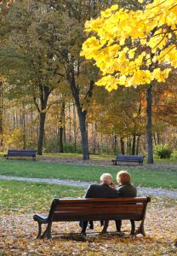
{"type": "MultiPolygon", "coordinates": [[[[100,184],[92,184],[88,187],[85,194],[85,198],[117,198],[117,197],[135,197],[137,195],[136,188],[131,184],[130,174],[126,171],[117,172],[116,185],[112,181],[110,173],[103,173],[100,177],[100,184]]],[[[115,220],[117,232],[121,232],[121,220],[115,220]]],[[[104,227],[101,233],[106,233],[109,221],[104,221],[104,227]]],[[[90,221],[90,229],[94,229],[93,222],[90,221]]],[[[88,221],[80,223],[82,227],[82,234],[85,235],[85,231],[88,226],[88,221]]]]}

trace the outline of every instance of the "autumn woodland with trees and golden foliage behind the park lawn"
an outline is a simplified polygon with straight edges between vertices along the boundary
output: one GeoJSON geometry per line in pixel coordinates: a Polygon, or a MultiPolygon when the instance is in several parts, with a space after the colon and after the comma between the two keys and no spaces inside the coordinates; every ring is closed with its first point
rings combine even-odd
{"type": "MultiPolygon", "coordinates": [[[[0,148],[145,154],[146,85],[107,92],[80,56],[86,20],[137,1],[1,1],[0,148]]],[[[146,1],[149,3],[149,1],[146,1]]],[[[144,3],[145,4],[145,3],[144,3]]],[[[177,144],[176,74],[152,88],[153,144],[177,144]]]]}

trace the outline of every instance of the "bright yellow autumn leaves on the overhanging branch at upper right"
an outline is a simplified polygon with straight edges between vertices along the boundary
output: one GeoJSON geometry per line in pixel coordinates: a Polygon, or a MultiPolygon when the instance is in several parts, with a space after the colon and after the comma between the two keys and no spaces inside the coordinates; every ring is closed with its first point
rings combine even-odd
{"type": "Polygon", "coordinates": [[[94,36],[83,44],[81,55],[94,59],[107,90],[118,85],[164,82],[170,67],[177,67],[177,4],[155,0],[144,10],[124,10],[117,4],[86,22],[94,36]]]}

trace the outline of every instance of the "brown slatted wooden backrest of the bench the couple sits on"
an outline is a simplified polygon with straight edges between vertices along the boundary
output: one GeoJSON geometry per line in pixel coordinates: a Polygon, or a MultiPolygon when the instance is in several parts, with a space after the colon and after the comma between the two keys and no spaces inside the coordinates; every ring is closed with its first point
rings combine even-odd
{"type": "Polygon", "coordinates": [[[149,197],[54,199],[49,212],[53,221],[144,218],[149,197]]]}

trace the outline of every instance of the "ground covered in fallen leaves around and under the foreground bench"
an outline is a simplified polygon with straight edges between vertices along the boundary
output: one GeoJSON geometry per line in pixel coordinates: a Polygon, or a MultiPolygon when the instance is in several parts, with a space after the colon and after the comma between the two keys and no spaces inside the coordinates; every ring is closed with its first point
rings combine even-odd
{"type": "MultiPolygon", "coordinates": [[[[111,233],[115,223],[110,222],[109,234],[100,236],[88,230],[86,241],[76,232],[76,222],[53,225],[51,240],[37,240],[37,223],[32,219],[36,212],[24,213],[0,210],[0,252],[4,255],[84,255],[84,256],[127,256],[127,255],[177,255],[174,246],[177,230],[177,204],[175,201],[152,201],[146,213],[146,237],[128,235],[129,221],[123,222],[124,236],[111,233]],[[71,233],[70,236],[66,235],[71,233]]],[[[137,223],[138,226],[139,223],[137,223]]],[[[94,223],[94,231],[100,232],[100,223],[94,223]]],[[[1,253],[0,253],[1,254],[1,253]]]]}

